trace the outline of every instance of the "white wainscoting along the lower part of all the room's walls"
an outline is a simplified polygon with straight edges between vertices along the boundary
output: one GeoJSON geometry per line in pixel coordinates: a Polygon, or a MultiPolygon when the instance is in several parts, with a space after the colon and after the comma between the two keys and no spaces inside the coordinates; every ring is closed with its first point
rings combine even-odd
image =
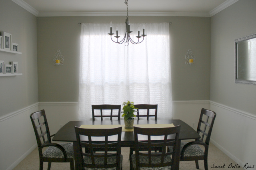
{"type": "MultiPolygon", "coordinates": [[[[240,166],[246,163],[256,166],[256,116],[208,100],[173,101],[173,119],[181,119],[190,126],[195,122],[196,129],[202,107],[217,113],[211,142],[240,166]]],[[[42,109],[46,111],[51,134],[60,129],[60,124],[78,120],[78,102],[39,102],[0,117],[1,170],[12,170],[36,148],[29,115],[42,109]]],[[[247,169],[256,170],[255,166],[247,169]]]]}

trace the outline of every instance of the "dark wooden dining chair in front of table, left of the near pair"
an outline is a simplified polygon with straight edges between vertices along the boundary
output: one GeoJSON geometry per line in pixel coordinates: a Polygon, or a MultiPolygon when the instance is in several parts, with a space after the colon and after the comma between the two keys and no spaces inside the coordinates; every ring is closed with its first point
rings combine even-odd
{"type": "Polygon", "coordinates": [[[75,127],[78,142],[78,155],[80,164],[86,170],[122,170],[123,156],[121,154],[122,127],[114,129],[83,129],[75,127]],[[113,135],[117,135],[113,136],[113,135]],[[103,137],[101,143],[95,137],[103,137]],[[110,140],[111,138],[111,140],[110,140]],[[83,152],[82,147],[89,152],[83,152]],[[96,153],[94,149],[101,147],[104,153],[96,153]],[[115,152],[109,148],[116,148],[115,152]]]}

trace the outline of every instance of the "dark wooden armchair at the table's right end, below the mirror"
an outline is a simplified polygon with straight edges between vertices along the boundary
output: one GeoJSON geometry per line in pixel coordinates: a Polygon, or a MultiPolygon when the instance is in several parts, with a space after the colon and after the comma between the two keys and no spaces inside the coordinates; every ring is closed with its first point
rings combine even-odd
{"type": "MultiPolygon", "coordinates": [[[[180,161],[194,160],[196,162],[196,168],[199,169],[198,160],[204,160],[204,169],[208,170],[208,149],[215,117],[216,113],[214,111],[202,108],[197,127],[197,133],[202,136],[200,135],[200,139],[192,142],[181,142],[180,161]],[[206,139],[204,139],[205,136],[206,139]],[[199,145],[204,146],[204,150],[199,145]]],[[[172,150],[172,147],[168,147],[168,150],[172,150]]]]}

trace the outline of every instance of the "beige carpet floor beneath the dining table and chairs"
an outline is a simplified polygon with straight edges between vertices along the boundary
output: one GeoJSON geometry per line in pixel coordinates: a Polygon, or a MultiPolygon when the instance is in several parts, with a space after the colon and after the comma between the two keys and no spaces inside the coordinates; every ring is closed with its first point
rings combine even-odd
{"type": "MultiPolygon", "coordinates": [[[[129,170],[129,148],[122,148],[123,158],[123,170],[129,170]]],[[[209,152],[208,152],[208,169],[216,170],[216,169],[226,169],[226,170],[244,170],[243,167],[237,168],[228,168],[228,166],[232,164],[235,166],[237,163],[234,162],[231,158],[229,158],[226,154],[220,151],[217,147],[215,147],[212,143],[210,143],[209,152]],[[211,168],[213,166],[224,166],[224,168],[211,168]]],[[[47,170],[47,162],[44,162],[44,170],[47,170]]],[[[204,161],[199,160],[199,168],[200,170],[204,170],[204,161]]],[[[14,170],[39,170],[39,155],[38,149],[34,149],[20,164],[18,164],[14,170]]],[[[52,163],[51,170],[70,170],[69,163],[52,163]]],[[[194,161],[186,161],[180,162],[180,170],[197,170],[196,164],[194,161]]]]}

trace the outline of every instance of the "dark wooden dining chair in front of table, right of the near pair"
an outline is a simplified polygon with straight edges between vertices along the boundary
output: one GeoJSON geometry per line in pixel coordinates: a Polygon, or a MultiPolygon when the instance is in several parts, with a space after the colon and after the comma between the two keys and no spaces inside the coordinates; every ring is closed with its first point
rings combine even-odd
{"type": "Polygon", "coordinates": [[[180,125],[166,128],[140,128],[134,127],[135,154],[132,154],[132,167],[134,170],[170,170],[178,156],[178,143],[180,125]],[[139,140],[138,134],[146,135],[148,140],[139,140]],[[172,135],[172,140],[168,139],[172,135]],[[156,136],[164,136],[163,141],[154,141],[156,136]],[[154,146],[162,147],[162,152],[151,152],[154,146]],[[166,147],[172,146],[173,150],[166,152],[166,147]],[[148,147],[148,152],[140,152],[140,147],[148,147]],[[172,157],[171,157],[172,154],[172,157]]]}

